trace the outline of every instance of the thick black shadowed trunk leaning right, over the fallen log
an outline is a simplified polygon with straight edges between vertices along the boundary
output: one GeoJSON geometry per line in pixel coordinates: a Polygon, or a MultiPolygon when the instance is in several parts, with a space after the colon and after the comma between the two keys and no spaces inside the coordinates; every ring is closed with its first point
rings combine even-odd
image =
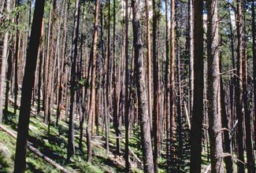
{"type": "Polygon", "coordinates": [[[35,82],[35,66],[39,50],[39,40],[42,30],[44,0],[35,1],[35,12],[32,22],[31,37],[28,44],[24,79],[22,83],[20,116],[17,132],[17,145],[14,161],[14,172],[21,173],[26,167],[26,152],[28,144],[28,124],[31,110],[32,87],[35,82]]]}

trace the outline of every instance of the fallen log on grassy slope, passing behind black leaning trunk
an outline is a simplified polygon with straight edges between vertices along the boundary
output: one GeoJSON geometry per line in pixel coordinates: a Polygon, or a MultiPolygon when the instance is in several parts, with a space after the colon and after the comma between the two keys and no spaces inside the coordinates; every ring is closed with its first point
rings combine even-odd
{"type": "MultiPolygon", "coordinates": [[[[12,136],[13,138],[17,139],[17,134],[14,134],[12,131],[10,131],[9,129],[7,129],[6,127],[2,126],[2,124],[0,124],[0,128],[2,129],[2,131],[5,131],[7,134],[9,134],[10,136],[12,136]]],[[[58,170],[65,172],[65,173],[69,173],[70,171],[68,171],[67,169],[65,169],[65,167],[62,167],[60,164],[57,164],[54,160],[51,160],[48,156],[45,156],[43,153],[39,152],[38,149],[35,149],[35,147],[33,147],[32,145],[30,145],[28,143],[28,149],[30,151],[32,151],[32,153],[35,153],[36,156],[41,157],[43,160],[45,160],[48,164],[56,167],[58,170]]]]}

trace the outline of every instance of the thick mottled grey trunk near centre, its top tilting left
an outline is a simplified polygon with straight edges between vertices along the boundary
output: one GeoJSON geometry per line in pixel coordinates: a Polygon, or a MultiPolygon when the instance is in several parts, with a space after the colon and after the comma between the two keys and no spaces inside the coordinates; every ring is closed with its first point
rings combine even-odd
{"type": "Polygon", "coordinates": [[[132,26],[133,26],[133,46],[135,56],[135,79],[137,84],[137,94],[139,98],[139,120],[141,129],[141,142],[143,149],[143,169],[144,172],[154,172],[153,153],[150,136],[150,120],[148,115],[148,102],[145,72],[143,67],[143,41],[140,25],[139,0],[132,1],[132,26]]]}

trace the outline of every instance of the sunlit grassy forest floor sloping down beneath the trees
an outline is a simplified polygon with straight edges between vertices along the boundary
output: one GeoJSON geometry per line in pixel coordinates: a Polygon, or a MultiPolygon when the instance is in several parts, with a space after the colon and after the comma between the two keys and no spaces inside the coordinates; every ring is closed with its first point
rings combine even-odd
{"type": "MultiPolygon", "coordinates": [[[[56,105],[54,107],[56,107],[56,105]]],[[[109,131],[109,153],[106,153],[105,149],[105,134],[100,130],[99,134],[95,136],[95,138],[92,138],[92,163],[87,164],[86,138],[83,137],[83,150],[81,151],[78,147],[80,138],[79,124],[75,123],[76,152],[75,155],[72,156],[72,159],[67,162],[66,150],[68,141],[68,122],[65,120],[65,117],[62,117],[58,127],[55,126],[54,121],[56,120],[56,117],[53,113],[52,120],[54,121],[50,123],[50,131],[48,131],[48,126],[43,123],[43,112],[40,112],[39,115],[37,115],[35,108],[36,105],[32,107],[32,114],[29,123],[29,145],[32,145],[35,149],[38,149],[39,152],[43,153],[43,155],[48,156],[51,160],[54,160],[70,172],[124,172],[124,142],[121,140],[121,155],[115,155],[116,138],[113,138],[115,136],[113,127],[110,127],[109,131]]],[[[56,109],[54,109],[54,111],[56,111],[56,109]]],[[[9,106],[8,112],[5,111],[5,113],[8,118],[7,120],[5,118],[3,119],[4,127],[9,131],[12,131],[14,134],[17,134],[17,115],[19,115],[19,110],[17,110],[17,115],[15,115],[13,113],[13,107],[9,106]]],[[[62,112],[62,114],[65,115],[65,112],[62,112]]],[[[78,122],[78,120],[76,122],[78,122]]],[[[11,137],[5,131],[2,131],[2,129],[0,129],[0,137],[0,172],[13,172],[16,139],[11,137]]],[[[132,162],[132,172],[143,172],[143,165],[138,161],[143,160],[139,127],[137,130],[133,131],[129,142],[130,149],[132,151],[130,157],[132,162]]],[[[206,156],[203,155],[203,157],[204,160],[206,160],[206,156]]],[[[158,162],[159,172],[165,172],[165,159],[159,157],[158,162]]],[[[204,161],[202,164],[203,169],[206,170],[209,162],[204,161]]],[[[51,164],[48,164],[42,158],[35,156],[35,153],[28,150],[26,172],[54,173],[60,171],[51,164]]]]}

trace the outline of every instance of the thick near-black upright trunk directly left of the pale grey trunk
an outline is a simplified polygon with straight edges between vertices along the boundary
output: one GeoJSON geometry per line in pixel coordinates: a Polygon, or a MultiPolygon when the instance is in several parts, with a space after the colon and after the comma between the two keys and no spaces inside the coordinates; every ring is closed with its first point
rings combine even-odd
{"type": "Polygon", "coordinates": [[[190,172],[201,172],[202,117],[203,117],[203,2],[194,4],[194,100],[191,117],[191,163],[190,172]]]}

